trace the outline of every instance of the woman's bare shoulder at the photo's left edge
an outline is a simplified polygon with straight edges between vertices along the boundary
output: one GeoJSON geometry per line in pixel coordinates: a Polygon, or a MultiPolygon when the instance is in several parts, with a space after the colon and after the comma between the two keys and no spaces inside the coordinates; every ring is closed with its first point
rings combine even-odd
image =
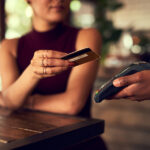
{"type": "Polygon", "coordinates": [[[9,53],[13,56],[16,56],[18,41],[19,38],[2,40],[2,42],[0,43],[0,53],[9,53]]]}

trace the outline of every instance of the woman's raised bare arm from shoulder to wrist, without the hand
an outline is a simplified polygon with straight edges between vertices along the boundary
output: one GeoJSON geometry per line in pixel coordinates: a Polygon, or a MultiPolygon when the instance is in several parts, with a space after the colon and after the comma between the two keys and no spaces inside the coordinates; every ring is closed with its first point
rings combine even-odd
{"type": "Polygon", "coordinates": [[[20,107],[38,82],[30,67],[20,76],[16,62],[17,43],[17,39],[4,40],[0,47],[2,98],[5,106],[11,109],[20,107]]]}

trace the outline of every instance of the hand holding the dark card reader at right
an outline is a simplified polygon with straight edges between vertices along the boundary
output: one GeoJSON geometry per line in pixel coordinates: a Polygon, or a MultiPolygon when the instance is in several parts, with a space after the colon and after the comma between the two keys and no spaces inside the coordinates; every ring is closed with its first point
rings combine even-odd
{"type": "Polygon", "coordinates": [[[127,86],[112,98],[128,98],[135,101],[150,99],[150,71],[141,71],[113,81],[115,87],[127,86]]]}

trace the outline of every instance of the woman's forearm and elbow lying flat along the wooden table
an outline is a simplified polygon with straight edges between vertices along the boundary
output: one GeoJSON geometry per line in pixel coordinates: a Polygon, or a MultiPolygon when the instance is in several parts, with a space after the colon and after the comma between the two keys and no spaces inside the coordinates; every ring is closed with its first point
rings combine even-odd
{"type": "Polygon", "coordinates": [[[73,93],[66,91],[53,95],[33,95],[29,99],[27,107],[33,110],[76,115],[86,102],[83,97],[77,97],[77,94],[73,95],[73,93]]]}

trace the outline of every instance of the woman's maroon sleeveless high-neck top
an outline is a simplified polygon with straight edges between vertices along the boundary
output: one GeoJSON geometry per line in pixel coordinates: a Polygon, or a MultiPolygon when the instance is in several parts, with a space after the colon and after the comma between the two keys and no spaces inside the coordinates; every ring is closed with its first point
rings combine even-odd
{"type": "MultiPolygon", "coordinates": [[[[30,64],[36,50],[57,50],[70,53],[75,51],[75,42],[79,29],[59,24],[55,29],[47,32],[38,32],[34,29],[22,36],[18,41],[17,64],[20,73],[30,64]]],[[[56,76],[41,79],[34,88],[33,94],[57,94],[65,92],[71,69],[56,76]]],[[[79,113],[81,116],[90,116],[90,96],[87,104],[79,113]]]]}

